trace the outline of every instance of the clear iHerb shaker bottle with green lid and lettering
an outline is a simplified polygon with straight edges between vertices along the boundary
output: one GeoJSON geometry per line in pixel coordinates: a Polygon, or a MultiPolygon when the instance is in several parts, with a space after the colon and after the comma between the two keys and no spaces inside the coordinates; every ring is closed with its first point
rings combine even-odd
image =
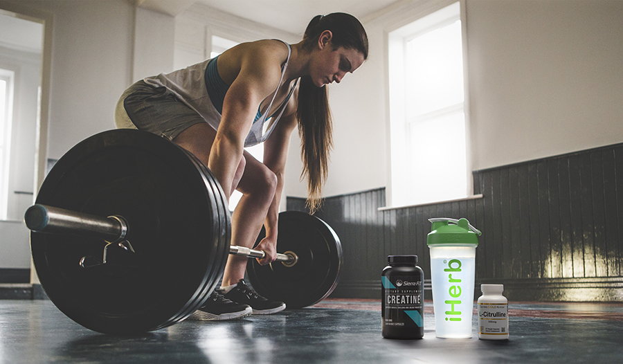
{"type": "Polygon", "coordinates": [[[471,338],[473,277],[480,231],[467,219],[428,219],[437,338],[471,338]]]}

